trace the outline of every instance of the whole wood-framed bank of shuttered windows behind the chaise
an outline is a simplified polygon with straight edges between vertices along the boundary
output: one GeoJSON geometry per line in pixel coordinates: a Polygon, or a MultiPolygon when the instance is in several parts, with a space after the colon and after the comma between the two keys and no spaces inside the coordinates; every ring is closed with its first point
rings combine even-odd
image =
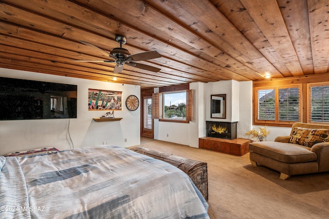
{"type": "Polygon", "coordinates": [[[329,124],[329,74],[253,82],[254,125],[295,122],[329,124]]]}

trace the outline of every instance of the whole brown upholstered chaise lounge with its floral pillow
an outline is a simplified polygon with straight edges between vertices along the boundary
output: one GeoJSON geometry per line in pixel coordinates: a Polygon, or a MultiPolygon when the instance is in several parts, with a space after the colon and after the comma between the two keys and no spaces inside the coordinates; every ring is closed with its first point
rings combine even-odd
{"type": "Polygon", "coordinates": [[[252,166],[263,165],[290,175],[329,171],[329,125],[295,123],[289,136],[249,144],[252,166]]]}

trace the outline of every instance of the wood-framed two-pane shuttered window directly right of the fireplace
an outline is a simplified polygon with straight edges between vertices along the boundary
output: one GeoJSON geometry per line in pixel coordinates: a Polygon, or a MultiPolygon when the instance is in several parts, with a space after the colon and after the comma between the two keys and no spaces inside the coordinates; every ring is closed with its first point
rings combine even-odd
{"type": "Polygon", "coordinates": [[[300,121],[300,86],[257,88],[257,123],[291,124],[300,121]]]}

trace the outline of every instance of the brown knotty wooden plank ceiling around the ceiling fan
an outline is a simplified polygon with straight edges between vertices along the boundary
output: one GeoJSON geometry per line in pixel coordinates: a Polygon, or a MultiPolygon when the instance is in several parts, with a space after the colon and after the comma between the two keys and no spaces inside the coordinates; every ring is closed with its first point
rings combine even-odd
{"type": "Polygon", "coordinates": [[[0,0],[0,67],[140,85],[259,81],[328,72],[327,0],[0,0]],[[115,63],[85,41],[162,57],[115,63]],[[114,77],[117,81],[114,81],[114,77]]]}

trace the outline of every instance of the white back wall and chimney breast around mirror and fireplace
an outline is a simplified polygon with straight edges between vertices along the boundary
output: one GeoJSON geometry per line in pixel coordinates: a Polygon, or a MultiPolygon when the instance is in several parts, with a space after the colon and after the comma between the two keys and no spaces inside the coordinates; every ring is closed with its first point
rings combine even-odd
{"type": "MultiPolygon", "coordinates": [[[[154,138],[191,147],[198,147],[198,138],[206,136],[206,121],[239,122],[237,137],[252,128],[252,82],[220,81],[191,83],[194,90],[194,121],[186,123],[154,122],[154,138]],[[226,94],[226,119],[211,118],[212,94],[226,94]],[[168,136],[167,136],[168,134],[168,136]]],[[[158,92],[158,89],[155,90],[158,92]]]]}

